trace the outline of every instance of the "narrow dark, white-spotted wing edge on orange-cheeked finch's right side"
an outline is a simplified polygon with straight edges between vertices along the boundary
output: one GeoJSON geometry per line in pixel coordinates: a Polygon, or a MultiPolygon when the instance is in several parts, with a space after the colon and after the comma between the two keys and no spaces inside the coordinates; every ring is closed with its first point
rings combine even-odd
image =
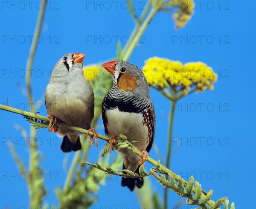
{"type": "Polygon", "coordinates": [[[146,148],[146,151],[149,152],[153,146],[154,143],[154,131],[156,126],[156,115],[154,110],[154,104],[151,103],[148,107],[149,112],[149,126],[148,126],[148,132],[149,132],[149,144],[146,148]]]}

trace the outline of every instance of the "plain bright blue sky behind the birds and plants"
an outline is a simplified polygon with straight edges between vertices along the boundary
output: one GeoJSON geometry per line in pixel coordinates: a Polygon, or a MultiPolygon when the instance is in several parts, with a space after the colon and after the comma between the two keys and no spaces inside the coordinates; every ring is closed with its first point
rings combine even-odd
{"type": "MultiPolygon", "coordinates": [[[[29,55],[29,36],[34,33],[40,4],[35,1],[29,8],[29,3],[23,2],[25,4],[13,1],[15,7],[9,5],[9,1],[1,1],[0,103],[6,104],[8,97],[12,107],[29,111],[26,97],[17,84],[25,86],[24,69],[29,55]]],[[[49,73],[61,56],[67,52],[81,52],[86,54],[84,64],[109,61],[116,54],[116,43],[114,38],[104,41],[104,37],[118,35],[119,41],[120,37],[130,35],[134,22],[128,9],[125,9],[125,3],[118,1],[117,9],[112,1],[111,9],[106,9],[108,5],[104,6],[100,1],[97,3],[102,6],[96,6],[94,1],[48,3],[42,27],[43,39],[38,40],[40,44],[33,64],[35,101],[44,99],[49,73]],[[94,36],[103,40],[102,43],[94,36]],[[93,37],[93,40],[88,40],[88,37],[93,37]]],[[[138,0],[135,5],[137,14],[140,14],[142,10],[138,8],[143,9],[145,2],[138,0]]],[[[180,30],[174,29],[170,15],[160,12],[146,29],[143,43],[136,47],[129,59],[140,68],[152,56],[183,63],[203,61],[218,74],[213,91],[192,94],[178,101],[173,136],[182,143],[180,146],[177,146],[176,141],[173,143],[172,150],[175,152],[172,154],[171,170],[186,180],[193,175],[204,190],[214,190],[213,200],[227,196],[230,203],[235,202],[236,208],[256,208],[255,7],[254,0],[243,1],[242,4],[241,1],[204,1],[201,6],[197,4],[192,19],[180,30]]],[[[125,42],[123,38],[122,46],[125,42]]],[[[157,147],[161,155],[166,156],[170,102],[153,89],[151,99],[157,116],[154,148],[157,147]]],[[[38,111],[46,116],[45,107],[40,107],[43,109],[38,111]]],[[[21,125],[27,131],[30,125],[22,116],[4,111],[0,112],[0,122],[0,206],[28,206],[26,183],[17,177],[19,171],[6,139],[17,142],[15,148],[27,164],[28,147],[22,146],[20,132],[14,128],[14,124],[21,125]],[[8,176],[5,177],[5,174],[8,176]]],[[[98,131],[103,134],[101,127],[102,121],[99,121],[98,131]]],[[[55,171],[59,174],[59,180],[46,180],[48,194],[45,202],[58,204],[54,188],[64,183],[66,172],[63,160],[66,154],[59,148],[61,139],[57,146],[52,143],[49,145],[49,138],[53,140],[55,136],[46,129],[38,130],[38,137],[43,140],[39,150],[46,157],[41,164],[51,174],[55,171]]],[[[150,157],[157,160],[159,157],[154,148],[150,157]]],[[[88,161],[95,163],[99,151],[90,149],[88,161]]],[[[113,152],[113,156],[115,154],[113,152]]],[[[69,162],[72,156],[73,153],[69,162]]],[[[146,168],[151,168],[149,163],[146,168]]],[[[101,186],[95,208],[140,206],[135,192],[121,187],[120,181],[117,178],[101,186]],[[116,196],[114,203],[110,201],[110,193],[116,196]]],[[[162,186],[152,178],[151,182],[163,197],[162,186]]],[[[169,198],[170,207],[182,199],[173,192],[170,192],[169,198]]],[[[186,204],[183,204],[182,208],[185,207],[186,204]]]]}

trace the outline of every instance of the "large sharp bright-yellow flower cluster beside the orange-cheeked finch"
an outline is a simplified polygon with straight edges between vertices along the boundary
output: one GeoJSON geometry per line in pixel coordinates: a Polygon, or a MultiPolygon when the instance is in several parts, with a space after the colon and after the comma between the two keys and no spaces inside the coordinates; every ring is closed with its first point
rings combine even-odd
{"type": "Polygon", "coordinates": [[[202,62],[182,64],[165,58],[153,57],[145,61],[143,67],[148,84],[160,89],[168,86],[186,95],[192,87],[196,92],[212,90],[217,75],[202,62]]]}

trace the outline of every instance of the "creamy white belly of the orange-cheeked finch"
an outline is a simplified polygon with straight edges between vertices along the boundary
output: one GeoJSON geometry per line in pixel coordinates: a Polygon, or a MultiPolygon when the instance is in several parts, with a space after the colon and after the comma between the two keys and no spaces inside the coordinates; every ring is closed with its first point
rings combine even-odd
{"type": "Polygon", "coordinates": [[[129,141],[139,143],[134,145],[140,150],[148,146],[148,128],[143,125],[143,115],[140,113],[121,112],[118,108],[106,112],[108,118],[108,136],[127,136],[129,141]]]}

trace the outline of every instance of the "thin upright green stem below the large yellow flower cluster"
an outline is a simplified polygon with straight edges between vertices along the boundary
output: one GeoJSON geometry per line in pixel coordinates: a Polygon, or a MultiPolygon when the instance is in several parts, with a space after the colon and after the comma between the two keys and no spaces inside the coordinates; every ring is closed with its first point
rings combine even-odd
{"type": "MultiPolygon", "coordinates": [[[[172,126],[173,126],[173,118],[174,118],[174,111],[175,111],[175,104],[176,101],[172,101],[171,105],[171,113],[169,116],[169,139],[168,139],[168,145],[167,145],[167,154],[166,154],[166,167],[170,167],[170,160],[171,160],[171,152],[172,152],[172,126]]],[[[168,190],[164,190],[164,208],[168,208],[168,190]]]]}

